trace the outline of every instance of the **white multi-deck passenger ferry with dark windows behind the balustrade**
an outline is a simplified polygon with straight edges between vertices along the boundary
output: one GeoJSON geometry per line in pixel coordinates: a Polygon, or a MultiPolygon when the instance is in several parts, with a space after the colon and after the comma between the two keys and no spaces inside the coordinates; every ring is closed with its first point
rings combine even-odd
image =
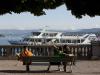
{"type": "Polygon", "coordinates": [[[24,37],[23,40],[12,41],[13,45],[42,45],[42,44],[91,44],[97,39],[95,34],[67,35],[64,32],[37,31],[24,37]]]}

